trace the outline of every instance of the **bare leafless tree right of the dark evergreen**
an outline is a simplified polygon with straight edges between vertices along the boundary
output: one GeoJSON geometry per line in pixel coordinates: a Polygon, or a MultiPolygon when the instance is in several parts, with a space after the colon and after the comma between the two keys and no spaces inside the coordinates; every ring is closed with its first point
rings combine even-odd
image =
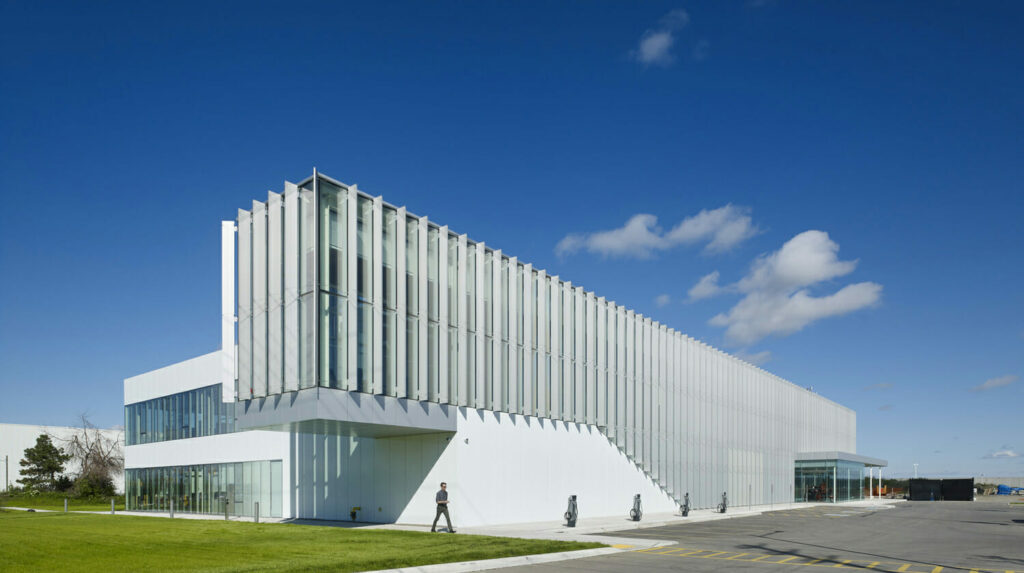
{"type": "Polygon", "coordinates": [[[57,439],[61,449],[78,466],[75,488],[80,494],[113,493],[114,476],[125,467],[124,449],[121,447],[123,434],[122,430],[117,437],[108,437],[83,413],[75,433],[57,439]]]}

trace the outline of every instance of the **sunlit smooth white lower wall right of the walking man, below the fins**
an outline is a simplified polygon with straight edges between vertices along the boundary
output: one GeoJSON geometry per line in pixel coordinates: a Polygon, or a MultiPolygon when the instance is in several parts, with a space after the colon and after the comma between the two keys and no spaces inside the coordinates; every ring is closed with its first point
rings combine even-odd
{"type": "Polygon", "coordinates": [[[456,474],[444,478],[457,525],[560,520],[570,494],[581,521],[626,519],[637,493],[644,512],[677,509],[594,426],[468,408],[461,413],[453,440],[456,474]]]}

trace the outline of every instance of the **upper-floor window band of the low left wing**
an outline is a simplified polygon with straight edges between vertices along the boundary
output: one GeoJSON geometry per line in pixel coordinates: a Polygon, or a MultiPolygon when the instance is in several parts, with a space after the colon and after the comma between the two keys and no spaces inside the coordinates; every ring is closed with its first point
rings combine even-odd
{"type": "Polygon", "coordinates": [[[234,404],[221,402],[221,385],[125,406],[125,445],[202,438],[234,432],[234,404]]]}

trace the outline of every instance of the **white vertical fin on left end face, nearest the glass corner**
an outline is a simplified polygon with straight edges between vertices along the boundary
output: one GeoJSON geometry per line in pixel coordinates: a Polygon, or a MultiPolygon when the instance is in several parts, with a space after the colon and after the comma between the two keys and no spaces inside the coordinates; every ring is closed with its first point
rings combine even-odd
{"type": "Polygon", "coordinates": [[[299,189],[285,183],[285,392],[299,389],[299,189]]]}

